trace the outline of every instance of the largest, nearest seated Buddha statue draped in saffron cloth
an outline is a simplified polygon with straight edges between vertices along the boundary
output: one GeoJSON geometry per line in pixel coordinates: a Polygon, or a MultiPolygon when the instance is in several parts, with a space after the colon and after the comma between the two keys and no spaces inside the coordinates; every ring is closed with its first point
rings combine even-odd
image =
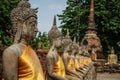
{"type": "Polygon", "coordinates": [[[15,39],[3,52],[3,80],[45,80],[38,56],[29,45],[38,28],[37,15],[28,0],[21,0],[10,17],[15,39]]]}

